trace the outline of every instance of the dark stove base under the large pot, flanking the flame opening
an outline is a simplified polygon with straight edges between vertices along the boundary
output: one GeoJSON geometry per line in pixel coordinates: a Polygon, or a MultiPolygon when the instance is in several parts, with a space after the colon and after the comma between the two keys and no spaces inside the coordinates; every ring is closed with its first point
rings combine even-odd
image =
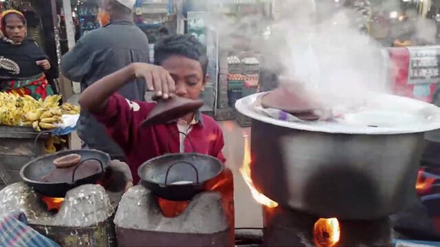
{"type": "MultiPolygon", "coordinates": [[[[314,225],[319,217],[290,209],[263,207],[263,246],[303,246],[314,244],[314,225]]],[[[393,246],[391,221],[339,221],[340,241],[335,246],[393,246]]]]}

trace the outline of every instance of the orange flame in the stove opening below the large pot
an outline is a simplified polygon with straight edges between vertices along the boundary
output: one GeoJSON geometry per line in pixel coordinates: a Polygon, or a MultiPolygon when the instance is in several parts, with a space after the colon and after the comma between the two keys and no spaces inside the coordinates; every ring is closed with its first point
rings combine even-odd
{"type": "Polygon", "coordinates": [[[319,219],[314,227],[314,242],[318,247],[333,247],[340,240],[338,219],[319,219]]]}

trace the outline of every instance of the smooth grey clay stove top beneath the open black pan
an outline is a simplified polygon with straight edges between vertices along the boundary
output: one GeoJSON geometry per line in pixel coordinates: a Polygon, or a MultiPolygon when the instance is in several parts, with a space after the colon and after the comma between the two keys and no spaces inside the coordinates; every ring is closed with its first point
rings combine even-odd
{"type": "Polygon", "coordinates": [[[181,215],[169,218],[162,215],[155,196],[142,185],[122,196],[114,222],[120,228],[162,233],[212,234],[230,228],[217,192],[199,193],[181,215]]]}

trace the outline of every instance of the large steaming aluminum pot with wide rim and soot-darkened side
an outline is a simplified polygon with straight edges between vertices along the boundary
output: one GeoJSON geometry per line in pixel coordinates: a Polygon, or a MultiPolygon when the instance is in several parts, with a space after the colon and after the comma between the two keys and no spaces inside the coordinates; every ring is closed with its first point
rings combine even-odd
{"type": "Polygon", "coordinates": [[[439,108],[390,96],[434,116],[412,131],[405,125],[341,130],[256,113],[257,96],[241,99],[236,108],[252,118],[252,181],[268,198],[321,217],[373,220],[399,211],[415,196],[423,132],[440,128],[439,108]]]}

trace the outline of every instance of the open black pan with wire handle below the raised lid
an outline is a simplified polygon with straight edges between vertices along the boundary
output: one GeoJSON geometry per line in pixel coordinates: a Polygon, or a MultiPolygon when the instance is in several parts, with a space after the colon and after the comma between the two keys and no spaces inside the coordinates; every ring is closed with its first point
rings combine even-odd
{"type": "MultiPolygon", "coordinates": [[[[194,150],[194,145],[192,148],[194,150]]],[[[208,181],[219,176],[223,169],[224,165],[219,159],[192,152],[152,158],[137,169],[137,174],[141,178],[141,185],[159,198],[186,201],[205,191],[208,181]]]]}

